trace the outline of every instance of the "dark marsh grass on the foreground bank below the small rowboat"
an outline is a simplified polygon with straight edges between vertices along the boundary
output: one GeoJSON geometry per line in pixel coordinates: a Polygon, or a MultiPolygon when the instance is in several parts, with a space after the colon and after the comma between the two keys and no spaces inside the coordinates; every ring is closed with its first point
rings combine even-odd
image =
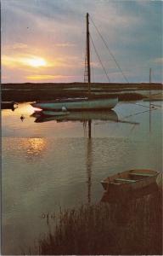
{"type": "Polygon", "coordinates": [[[162,191],[135,200],[60,209],[40,255],[162,254],[162,191]]]}

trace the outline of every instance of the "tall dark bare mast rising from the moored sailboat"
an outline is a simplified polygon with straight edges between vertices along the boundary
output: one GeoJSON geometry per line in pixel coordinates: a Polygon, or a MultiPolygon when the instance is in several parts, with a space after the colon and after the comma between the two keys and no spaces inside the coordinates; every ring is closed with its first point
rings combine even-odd
{"type": "Polygon", "coordinates": [[[89,14],[87,13],[87,82],[88,93],[91,93],[90,43],[89,43],[89,14]]]}

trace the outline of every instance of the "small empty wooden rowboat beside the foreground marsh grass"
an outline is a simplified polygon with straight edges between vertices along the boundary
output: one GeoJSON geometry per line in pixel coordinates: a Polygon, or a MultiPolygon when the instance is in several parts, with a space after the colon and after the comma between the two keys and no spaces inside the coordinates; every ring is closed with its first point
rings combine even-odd
{"type": "Polygon", "coordinates": [[[146,169],[130,170],[107,177],[101,183],[106,191],[110,189],[116,191],[143,189],[152,183],[156,183],[159,174],[160,172],[146,169]]]}

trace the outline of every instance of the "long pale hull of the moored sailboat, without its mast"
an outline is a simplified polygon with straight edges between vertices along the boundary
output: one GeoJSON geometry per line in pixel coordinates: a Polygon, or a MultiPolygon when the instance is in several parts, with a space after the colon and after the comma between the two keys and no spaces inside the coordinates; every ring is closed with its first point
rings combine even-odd
{"type": "Polygon", "coordinates": [[[67,110],[98,110],[115,108],[118,103],[118,98],[112,99],[95,99],[95,100],[71,100],[71,101],[54,101],[54,102],[36,102],[31,103],[34,108],[41,108],[42,110],[59,111],[62,108],[67,110]]]}

